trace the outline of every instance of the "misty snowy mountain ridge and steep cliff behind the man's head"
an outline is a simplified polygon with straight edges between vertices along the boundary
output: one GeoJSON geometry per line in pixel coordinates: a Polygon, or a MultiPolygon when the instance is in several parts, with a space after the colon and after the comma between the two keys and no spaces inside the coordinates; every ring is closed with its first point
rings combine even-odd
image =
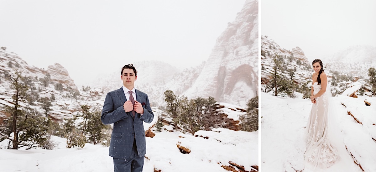
{"type": "MultiPolygon", "coordinates": [[[[178,58],[178,57],[177,57],[178,58]]],[[[120,64],[119,68],[123,65],[120,64]]],[[[206,62],[176,69],[161,62],[135,62],[135,87],[146,92],[153,106],[164,104],[164,91],[188,98],[198,96],[246,107],[258,91],[258,1],[247,0],[235,21],[217,38],[206,62]]],[[[120,88],[120,69],[94,81],[105,93],[120,88]]]]}

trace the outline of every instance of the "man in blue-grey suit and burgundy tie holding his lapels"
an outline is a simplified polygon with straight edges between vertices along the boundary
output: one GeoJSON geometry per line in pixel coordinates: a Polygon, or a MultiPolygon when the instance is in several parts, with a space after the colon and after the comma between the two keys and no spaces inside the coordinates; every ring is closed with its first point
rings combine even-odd
{"type": "Polygon", "coordinates": [[[114,124],[109,155],[115,172],[142,172],[146,140],[143,121],[150,123],[154,114],[147,94],[135,89],[136,68],[121,68],[123,87],[106,95],[102,109],[103,124],[114,124]]]}

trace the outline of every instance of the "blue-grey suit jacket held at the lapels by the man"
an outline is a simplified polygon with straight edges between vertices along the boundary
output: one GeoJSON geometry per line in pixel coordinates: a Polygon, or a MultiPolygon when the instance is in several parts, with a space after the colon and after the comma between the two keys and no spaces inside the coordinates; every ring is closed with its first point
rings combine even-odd
{"type": "Polygon", "coordinates": [[[150,123],[154,114],[150,108],[147,94],[136,91],[136,100],[144,107],[144,114],[125,112],[123,104],[127,101],[123,88],[111,91],[106,95],[102,109],[103,124],[114,124],[111,134],[109,155],[114,158],[126,159],[132,151],[133,141],[136,140],[138,156],[146,154],[146,140],[143,121],[150,123]],[[136,138],[136,139],[135,139],[136,138]]]}

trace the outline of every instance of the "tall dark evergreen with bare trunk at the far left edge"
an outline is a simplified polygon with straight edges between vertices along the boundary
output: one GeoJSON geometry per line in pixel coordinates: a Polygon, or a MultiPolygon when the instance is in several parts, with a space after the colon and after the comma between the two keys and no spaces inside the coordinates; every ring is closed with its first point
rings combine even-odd
{"type": "Polygon", "coordinates": [[[16,70],[15,76],[8,75],[11,81],[11,89],[14,90],[12,96],[13,105],[6,106],[6,112],[11,116],[4,120],[1,125],[0,141],[9,139],[10,149],[18,149],[25,147],[26,149],[42,147],[50,144],[49,128],[45,118],[40,116],[34,109],[29,106],[20,106],[20,104],[28,104],[27,93],[28,87],[22,82],[21,72],[16,70]]]}

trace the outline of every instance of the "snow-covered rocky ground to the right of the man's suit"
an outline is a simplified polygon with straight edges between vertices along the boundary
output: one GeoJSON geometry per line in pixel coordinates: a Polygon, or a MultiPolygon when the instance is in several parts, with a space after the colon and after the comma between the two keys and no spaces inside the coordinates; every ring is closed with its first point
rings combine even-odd
{"type": "MultiPolygon", "coordinates": [[[[174,132],[174,134],[177,134],[177,139],[166,140],[165,147],[175,144],[175,151],[158,154],[158,156],[154,155],[154,152],[148,152],[146,156],[150,159],[150,162],[154,162],[155,169],[163,172],[192,171],[195,169],[224,172],[227,170],[224,170],[223,167],[233,167],[232,164],[244,166],[245,170],[251,171],[251,169],[254,169],[251,166],[258,166],[258,131],[250,133],[226,128],[213,130],[215,131],[197,131],[195,134],[207,136],[208,139],[174,132]],[[180,151],[179,147],[183,151],[180,151]],[[202,164],[205,164],[203,169],[202,164]]],[[[155,138],[158,137],[159,133],[155,138]]]]}

